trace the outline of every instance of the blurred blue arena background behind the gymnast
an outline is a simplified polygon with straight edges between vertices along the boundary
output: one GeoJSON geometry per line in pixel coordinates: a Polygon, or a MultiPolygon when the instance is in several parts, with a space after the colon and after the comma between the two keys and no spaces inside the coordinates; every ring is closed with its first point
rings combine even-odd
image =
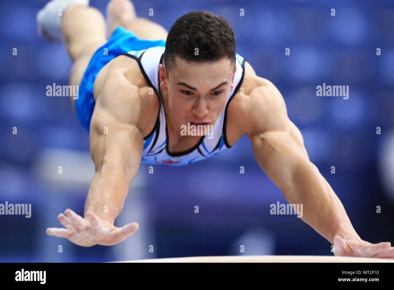
{"type": "MultiPolygon", "coordinates": [[[[91,6],[105,13],[107,2],[91,0],[91,6]]],[[[230,150],[193,165],[155,165],[148,174],[149,165],[141,163],[115,221],[117,226],[136,221],[139,230],[119,245],[84,248],[46,235],[47,227],[61,227],[57,215],[66,208],[83,215],[94,166],[89,135],[68,97],[46,96],[46,86],[67,84],[71,60],[60,43],[37,34],[35,16],[45,4],[0,4],[0,203],[32,204],[31,218],[0,215],[0,262],[333,255],[331,244],[295,215],[270,215],[270,204],[286,200],[258,167],[245,136],[230,150]]],[[[394,244],[392,1],[145,0],[134,6],[140,17],[149,17],[153,8],[149,19],[167,30],[191,10],[225,17],[238,54],[281,91],[310,160],[339,196],[357,233],[372,243],[394,244]],[[349,99],[317,97],[316,86],[323,82],[348,85],[349,99]]]]}

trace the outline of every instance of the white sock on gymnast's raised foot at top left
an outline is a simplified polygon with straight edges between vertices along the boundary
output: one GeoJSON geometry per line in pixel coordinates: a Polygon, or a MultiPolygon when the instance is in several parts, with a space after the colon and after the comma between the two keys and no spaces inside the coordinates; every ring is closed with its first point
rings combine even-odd
{"type": "Polygon", "coordinates": [[[38,34],[51,41],[60,41],[62,15],[66,8],[74,3],[89,6],[89,0],[52,0],[46,3],[37,13],[38,34]]]}

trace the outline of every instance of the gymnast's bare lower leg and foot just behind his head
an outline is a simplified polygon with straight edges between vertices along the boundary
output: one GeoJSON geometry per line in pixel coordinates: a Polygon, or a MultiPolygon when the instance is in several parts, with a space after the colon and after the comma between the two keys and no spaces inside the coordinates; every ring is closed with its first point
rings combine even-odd
{"type": "Polygon", "coordinates": [[[107,6],[107,18],[110,34],[117,26],[123,26],[142,39],[167,39],[168,32],[163,26],[136,16],[130,0],[111,0],[107,6]]]}

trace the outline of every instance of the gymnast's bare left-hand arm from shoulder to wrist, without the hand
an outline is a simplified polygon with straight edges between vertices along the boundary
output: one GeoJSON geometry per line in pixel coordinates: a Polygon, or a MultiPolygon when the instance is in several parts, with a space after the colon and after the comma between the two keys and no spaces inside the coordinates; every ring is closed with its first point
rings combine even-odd
{"type": "Polygon", "coordinates": [[[90,124],[90,151],[96,174],[87,194],[85,214],[93,211],[113,224],[137,174],[143,136],[136,126],[138,88],[118,72],[106,83],[111,85],[104,84],[90,124]],[[108,206],[108,213],[104,213],[104,206],[108,206]]]}

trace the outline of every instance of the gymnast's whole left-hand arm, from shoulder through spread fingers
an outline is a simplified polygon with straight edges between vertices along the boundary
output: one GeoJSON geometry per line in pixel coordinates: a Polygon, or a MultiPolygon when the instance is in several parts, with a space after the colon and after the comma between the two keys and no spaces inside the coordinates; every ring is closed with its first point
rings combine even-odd
{"type": "Polygon", "coordinates": [[[88,247],[114,245],[138,229],[137,223],[113,226],[141,161],[143,136],[136,126],[138,118],[138,88],[114,71],[97,98],[90,124],[96,173],[86,198],[85,218],[67,209],[58,216],[66,228],[48,228],[48,234],[88,247]]]}

